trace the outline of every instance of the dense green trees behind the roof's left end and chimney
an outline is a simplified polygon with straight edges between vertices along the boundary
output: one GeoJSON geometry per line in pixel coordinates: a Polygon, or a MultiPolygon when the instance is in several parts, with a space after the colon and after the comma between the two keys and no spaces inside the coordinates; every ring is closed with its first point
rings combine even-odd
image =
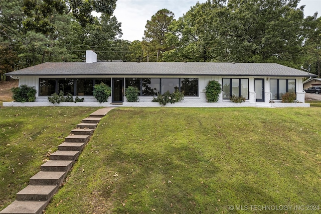
{"type": "MultiPolygon", "coordinates": [[[[110,18],[115,3],[116,0],[1,0],[0,44],[19,56],[14,62],[12,54],[1,60],[11,61],[14,69],[45,61],[80,61],[84,49],[90,48],[95,39],[105,45],[121,36],[121,24],[110,18]],[[102,13],[99,20],[91,15],[93,11],[102,13]],[[96,28],[90,28],[92,24],[96,28]]],[[[2,66],[1,72],[11,71],[8,67],[12,66],[2,66]]]]}

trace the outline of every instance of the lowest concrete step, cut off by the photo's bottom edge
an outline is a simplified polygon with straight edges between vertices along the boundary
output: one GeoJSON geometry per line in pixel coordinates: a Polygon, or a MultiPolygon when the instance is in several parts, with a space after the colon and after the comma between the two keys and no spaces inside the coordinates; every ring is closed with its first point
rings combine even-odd
{"type": "Polygon", "coordinates": [[[1,214],[20,214],[20,213],[35,213],[41,214],[46,208],[49,200],[47,201],[18,201],[15,200],[5,209],[1,210],[1,214]]]}

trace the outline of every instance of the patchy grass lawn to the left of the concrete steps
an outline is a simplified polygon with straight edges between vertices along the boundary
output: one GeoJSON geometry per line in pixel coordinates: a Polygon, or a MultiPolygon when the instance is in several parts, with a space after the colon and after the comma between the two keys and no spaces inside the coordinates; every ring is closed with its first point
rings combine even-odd
{"type": "Polygon", "coordinates": [[[0,210],[15,200],[70,131],[97,109],[0,109],[0,210]]]}

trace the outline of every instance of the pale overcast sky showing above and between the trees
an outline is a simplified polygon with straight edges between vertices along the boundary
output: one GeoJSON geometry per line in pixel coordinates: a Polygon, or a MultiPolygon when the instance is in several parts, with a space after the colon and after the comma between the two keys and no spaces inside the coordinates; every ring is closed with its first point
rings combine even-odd
{"type": "MultiPolygon", "coordinates": [[[[175,14],[175,19],[186,14],[197,2],[207,0],[117,0],[113,16],[121,23],[123,40],[141,41],[147,20],[157,11],[167,9],[175,14]]],[[[321,0],[301,0],[298,6],[305,5],[304,16],[321,15],[321,0]]]]}

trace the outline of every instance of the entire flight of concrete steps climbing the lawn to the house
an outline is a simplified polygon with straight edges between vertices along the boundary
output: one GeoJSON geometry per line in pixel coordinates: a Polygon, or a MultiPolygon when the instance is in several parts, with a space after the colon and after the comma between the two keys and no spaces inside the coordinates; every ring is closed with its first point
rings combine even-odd
{"type": "Polygon", "coordinates": [[[66,174],[89,141],[100,119],[114,108],[99,109],[77,125],[77,129],[41,165],[40,172],[30,178],[29,185],[17,193],[16,200],[0,211],[4,213],[42,213],[62,184],[66,174]]]}

